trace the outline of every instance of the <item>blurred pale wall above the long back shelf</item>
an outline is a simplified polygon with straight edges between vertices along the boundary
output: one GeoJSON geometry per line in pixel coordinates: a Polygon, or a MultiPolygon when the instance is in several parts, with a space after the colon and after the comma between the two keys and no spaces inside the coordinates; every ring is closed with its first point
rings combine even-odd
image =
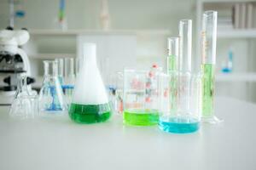
{"type": "MultiPolygon", "coordinates": [[[[54,28],[58,0],[21,0],[24,19],[16,19],[17,27],[54,28]]],[[[100,29],[100,0],[67,0],[68,28],[100,29]]],[[[195,0],[108,0],[114,29],[170,29],[177,21],[191,18],[195,0]]],[[[1,0],[0,27],[8,25],[8,0],[1,0]]],[[[177,31],[176,31],[177,32],[177,31]]]]}

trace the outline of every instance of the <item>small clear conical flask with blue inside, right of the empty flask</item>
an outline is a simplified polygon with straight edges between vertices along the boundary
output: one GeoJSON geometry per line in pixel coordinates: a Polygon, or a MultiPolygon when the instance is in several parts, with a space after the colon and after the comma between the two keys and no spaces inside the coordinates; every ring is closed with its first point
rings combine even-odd
{"type": "Polygon", "coordinates": [[[44,81],[39,94],[40,111],[65,111],[67,105],[58,77],[57,61],[44,60],[44,81]]]}

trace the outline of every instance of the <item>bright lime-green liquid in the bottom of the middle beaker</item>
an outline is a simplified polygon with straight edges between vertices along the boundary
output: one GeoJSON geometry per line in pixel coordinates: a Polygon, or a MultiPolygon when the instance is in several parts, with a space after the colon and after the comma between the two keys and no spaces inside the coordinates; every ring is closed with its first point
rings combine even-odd
{"type": "Polygon", "coordinates": [[[150,126],[159,121],[159,112],[156,110],[125,110],[124,122],[129,125],[150,126]]]}

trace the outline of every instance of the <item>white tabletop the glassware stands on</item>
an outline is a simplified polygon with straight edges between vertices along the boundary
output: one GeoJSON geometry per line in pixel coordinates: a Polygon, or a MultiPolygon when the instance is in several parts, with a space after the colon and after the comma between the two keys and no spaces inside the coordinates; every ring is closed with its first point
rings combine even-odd
{"type": "Polygon", "coordinates": [[[115,115],[81,125],[68,116],[16,120],[0,108],[0,169],[256,169],[256,105],[217,98],[218,125],[173,134],[131,127],[115,115]]]}

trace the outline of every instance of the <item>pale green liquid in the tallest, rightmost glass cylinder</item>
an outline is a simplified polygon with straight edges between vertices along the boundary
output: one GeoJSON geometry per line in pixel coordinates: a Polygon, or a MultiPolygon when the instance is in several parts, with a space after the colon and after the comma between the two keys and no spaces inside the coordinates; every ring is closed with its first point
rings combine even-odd
{"type": "Polygon", "coordinates": [[[215,65],[204,64],[203,70],[203,99],[202,99],[202,116],[213,116],[213,96],[214,96],[214,82],[215,82],[215,65]]]}

